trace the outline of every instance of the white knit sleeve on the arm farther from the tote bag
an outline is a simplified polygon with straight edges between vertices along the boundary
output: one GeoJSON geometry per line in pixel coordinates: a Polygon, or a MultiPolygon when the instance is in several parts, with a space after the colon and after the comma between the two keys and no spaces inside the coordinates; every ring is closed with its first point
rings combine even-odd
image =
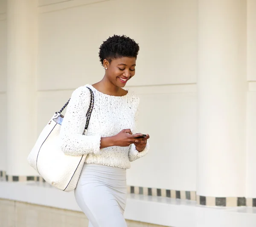
{"type": "MultiPolygon", "coordinates": [[[[139,97],[137,97],[137,105],[136,105],[137,109],[135,112],[135,131],[133,133],[138,133],[137,129],[138,129],[138,116],[139,116],[139,103],[140,103],[140,99],[139,99],[139,97]]],[[[141,152],[137,151],[136,146],[134,144],[131,144],[129,153],[128,153],[129,161],[133,162],[136,159],[139,159],[139,158],[145,156],[148,153],[148,150],[149,150],[148,142],[147,142],[145,149],[141,152]]]]}

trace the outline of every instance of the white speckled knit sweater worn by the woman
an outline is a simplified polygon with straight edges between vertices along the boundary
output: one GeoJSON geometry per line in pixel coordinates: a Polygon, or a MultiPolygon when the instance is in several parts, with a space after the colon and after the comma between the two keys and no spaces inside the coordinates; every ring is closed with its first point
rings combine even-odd
{"type": "Polygon", "coordinates": [[[88,154],[86,163],[130,168],[130,162],[148,153],[149,144],[142,152],[138,152],[134,144],[100,149],[100,141],[101,137],[116,135],[123,129],[138,133],[139,102],[139,97],[131,91],[125,96],[111,96],[96,90],[92,85],[77,88],[71,96],[61,125],[61,149],[72,156],[88,154]],[[87,87],[93,91],[94,107],[85,136],[82,135],[85,115],[90,105],[90,91],[87,87]]]}

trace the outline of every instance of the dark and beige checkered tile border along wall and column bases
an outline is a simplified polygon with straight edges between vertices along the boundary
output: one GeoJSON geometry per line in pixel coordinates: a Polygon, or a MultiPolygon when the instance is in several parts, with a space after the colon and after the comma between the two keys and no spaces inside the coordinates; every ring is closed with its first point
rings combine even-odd
{"type": "MultiPolygon", "coordinates": [[[[8,176],[5,171],[0,171],[0,180],[8,182],[46,182],[41,176],[8,176]]],[[[51,186],[51,185],[49,185],[51,186]]],[[[51,186],[52,187],[52,186],[51,186]]],[[[169,189],[160,189],[152,187],[127,186],[127,192],[130,194],[161,196],[173,199],[187,199],[197,201],[202,206],[217,207],[256,207],[256,198],[245,197],[210,197],[196,195],[195,191],[177,191],[169,189]]]]}

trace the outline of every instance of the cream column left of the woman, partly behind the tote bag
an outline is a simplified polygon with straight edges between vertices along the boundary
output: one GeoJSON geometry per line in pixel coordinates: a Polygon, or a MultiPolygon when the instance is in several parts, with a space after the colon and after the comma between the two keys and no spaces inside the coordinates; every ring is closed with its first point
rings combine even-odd
{"type": "Polygon", "coordinates": [[[7,1],[7,174],[32,172],[35,141],[37,0],[7,1]]]}

